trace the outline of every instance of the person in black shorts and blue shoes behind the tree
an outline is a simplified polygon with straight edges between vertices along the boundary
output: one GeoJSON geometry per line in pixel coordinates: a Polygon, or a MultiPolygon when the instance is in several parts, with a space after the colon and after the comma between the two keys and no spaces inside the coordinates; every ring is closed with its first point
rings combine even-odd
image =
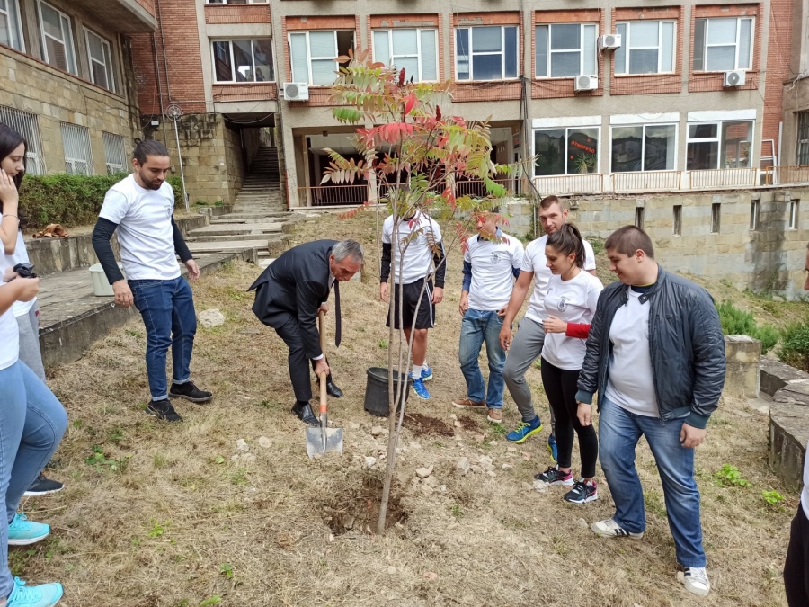
{"type": "MultiPolygon", "coordinates": [[[[390,215],[385,219],[382,224],[379,297],[387,302],[390,299],[390,290],[394,292],[394,327],[405,332],[408,344],[411,341],[413,343],[413,370],[410,376],[413,379],[413,391],[424,399],[430,397],[424,382],[432,379],[432,370],[427,364],[427,330],[435,326],[435,304],[444,299],[446,272],[447,258],[441,242],[441,228],[435,219],[422,210],[416,210],[409,218],[395,218],[390,215]],[[433,272],[434,285],[431,278],[433,272]],[[393,285],[388,287],[391,274],[393,285]]],[[[390,326],[389,316],[387,326],[390,326]]]]}

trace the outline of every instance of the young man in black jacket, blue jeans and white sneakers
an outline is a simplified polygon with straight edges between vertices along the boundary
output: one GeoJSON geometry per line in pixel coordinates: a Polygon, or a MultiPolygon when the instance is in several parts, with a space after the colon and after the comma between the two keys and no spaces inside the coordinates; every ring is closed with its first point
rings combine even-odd
{"type": "Polygon", "coordinates": [[[652,240],[635,226],[605,243],[618,276],[599,298],[579,374],[578,417],[591,424],[599,393],[601,468],[616,512],[595,522],[604,537],[640,540],[644,494],[635,450],[646,437],[662,481],[680,580],[689,592],[710,591],[694,480],[694,449],[725,385],[725,338],[714,301],[702,287],[665,272],[652,240]]]}

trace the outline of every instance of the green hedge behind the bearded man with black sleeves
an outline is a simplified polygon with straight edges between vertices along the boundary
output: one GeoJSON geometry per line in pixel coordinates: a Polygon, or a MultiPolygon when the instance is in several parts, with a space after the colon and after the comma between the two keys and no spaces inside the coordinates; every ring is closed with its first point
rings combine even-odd
{"type": "MultiPolygon", "coordinates": [[[[98,219],[104,195],[126,173],[112,175],[26,175],[20,190],[20,212],[23,228],[39,229],[49,223],[92,226],[98,219]]],[[[182,201],[180,177],[168,178],[174,191],[174,204],[182,201]]]]}

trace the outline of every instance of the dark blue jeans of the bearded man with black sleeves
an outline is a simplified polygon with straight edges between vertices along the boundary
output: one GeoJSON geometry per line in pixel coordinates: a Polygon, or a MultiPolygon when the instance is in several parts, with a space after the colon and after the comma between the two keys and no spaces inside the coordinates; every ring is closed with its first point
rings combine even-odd
{"type": "Polygon", "coordinates": [[[197,315],[191,287],[182,276],[171,281],[129,281],[147,329],[147,375],[152,400],[168,398],[165,354],[172,346],[173,382],[191,379],[191,351],[197,315]]]}

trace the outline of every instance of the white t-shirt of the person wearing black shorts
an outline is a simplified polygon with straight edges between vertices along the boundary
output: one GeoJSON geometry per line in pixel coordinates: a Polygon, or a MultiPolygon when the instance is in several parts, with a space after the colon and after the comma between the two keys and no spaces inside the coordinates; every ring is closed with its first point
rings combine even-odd
{"type": "MultiPolygon", "coordinates": [[[[402,272],[403,284],[410,284],[427,276],[432,271],[432,249],[430,243],[441,242],[441,228],[435,219],[426,213],[416,213],[411,220],[400,219],[394,235],[394,218],[390,215],[382,224],[382,243],[390,246],[391,274],[395,284],[399,283],[399,272],[402,272]],[[410,238],[413,232],[418,235],[410,238]],[[399,246],[405,248],[405,254],[399,259],[399,246]]],[[[446,262],[445,262],[446,263],[446,262]]]]}

